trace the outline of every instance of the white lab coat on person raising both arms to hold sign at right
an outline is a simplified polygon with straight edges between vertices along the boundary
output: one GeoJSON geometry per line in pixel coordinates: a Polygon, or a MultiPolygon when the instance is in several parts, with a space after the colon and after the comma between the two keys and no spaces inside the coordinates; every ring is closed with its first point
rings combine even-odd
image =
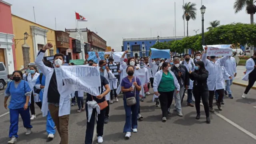
{"type": "Polygon", "coordinates": [[[206,70],[209,72],[209,76],[207,79],[208,89],[210,91],[220,90],[225,88],[225,84],[223,84],[223,74],[222,74],[222,64],[226,62],[228,56],[224,56],[222,58],[216,59],[216,62],[212,62],[206,59],[206,54],[202,55],[202,61],[204,62],[204,66],[206,70]]]}

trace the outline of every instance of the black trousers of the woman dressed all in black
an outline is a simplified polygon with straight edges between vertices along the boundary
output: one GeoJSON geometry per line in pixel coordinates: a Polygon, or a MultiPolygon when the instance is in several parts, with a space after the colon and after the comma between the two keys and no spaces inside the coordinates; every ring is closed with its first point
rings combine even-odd
{"type": "Polygon", "coordinates": [[[196,105],[196,113],[200,114],[200,101],[202,98],[202,103],[204,104],[204,112],[206,115],[206,118],[209,117],[209,92],[198,92],[197,90],[193,90],[194,98],[195,98],[195,105],[196,105]]]}

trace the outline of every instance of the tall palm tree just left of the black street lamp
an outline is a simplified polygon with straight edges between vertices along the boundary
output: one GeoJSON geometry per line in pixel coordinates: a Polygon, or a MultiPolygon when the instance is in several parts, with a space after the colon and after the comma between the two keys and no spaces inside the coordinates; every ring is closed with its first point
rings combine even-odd
{"type": "Polygon", "coordinates": [[[190,18],[192,18],[192,20],[196,19],[196,4],[188,2],[184,4],[182,8],[184,9],[184,14],[182,15],[182,18],[183,20],[186,18],[186,21],[187,21],[187,36],[188,36],[188,21],[190,20],[190,18]]]}

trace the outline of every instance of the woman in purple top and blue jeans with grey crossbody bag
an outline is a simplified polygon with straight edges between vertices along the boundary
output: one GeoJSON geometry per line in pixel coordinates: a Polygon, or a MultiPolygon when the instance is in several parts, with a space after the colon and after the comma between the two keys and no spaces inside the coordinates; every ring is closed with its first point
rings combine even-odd
{"type": "Polygon", "coordinates": [[[124,92],[124,110],[126,115],[126,120],[124,124],[125,137],[130,138],[131,130],[132,132],[138,132],[137,127],[137,115],[138,109],[140,107],[140,90],[141,83],[139,78],[134,76],[134,67],[128,66],[126,68],[126,73],[128,76],[123,78],[121,82],[122,92],[124,92]],[[132,102],[130,101],[132,100],[132,102]]]}

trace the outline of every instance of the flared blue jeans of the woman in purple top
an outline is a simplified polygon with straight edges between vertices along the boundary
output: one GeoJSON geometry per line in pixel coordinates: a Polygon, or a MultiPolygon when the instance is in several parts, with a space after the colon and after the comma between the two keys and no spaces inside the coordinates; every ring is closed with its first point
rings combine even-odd
{"type": "Polygon", "coordinates": [[[124,132],[131,132],[132,128],[137,128],[137,116],[140,107],[140,97],[136,95],[136,104],[127,106],[126,99],[124,99],[124,110],[125,110],[125,124],[124,132]]]}

